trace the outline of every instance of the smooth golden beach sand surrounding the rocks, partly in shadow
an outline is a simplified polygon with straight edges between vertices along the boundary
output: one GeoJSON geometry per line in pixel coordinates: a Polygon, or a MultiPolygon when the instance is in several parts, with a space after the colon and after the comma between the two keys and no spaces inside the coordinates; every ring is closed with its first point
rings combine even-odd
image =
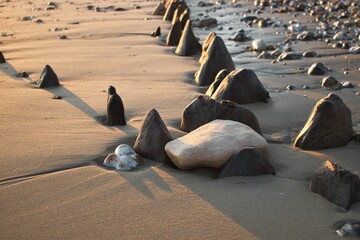
{"type": "MultiPolygon", "coordinates": [[[[237,68],[255,70],[270,91],[269,103],[246,107],[270,140],[269,160],[277,175],[215,180],[215,170],[177,171],[146,159],[132,172],[102,167],[118,144],[134,143],[150,108],[159,111],[174,137],[184,134],[178,130],[182,110],[206,90],[193,82],[199,56],[178,57],[149,36],[157,26],[166,36],[170,27],[149,15],[156,1],[57,2],[52,11],[43,10],[47,2],[41,0],[0,2],[1,31],[8,35],[0,38],[7,59],[0,64],[0,239],[338,239],[333,224],[360,220],[360,203],[344,211],[308,189],[325,160],[360,175],[359,143],[322,151],[291,146],[314,104],[329,93],[276,91],[288,84],[317,85],[321,77],[287,74],[308,67],[309,60],[288,61],[285,69],[253,53],[237,54],[241,47],[228,42],[237,68]],[[94,12],[88,4],[128,11],[94,12]],[[44,23],[18,21],[32,15],[44,23]],[[54,27],[68,30],[49,31],[54,27]],[[68,39],[59,40],[59,34],[68,39]],[[61,87],[33,87],[45,64],[61,87]],[[21,71],[30,78],[14,76],[21,71]],[[103,123],[109,85],[123,99],[127,126],[103,123]]],[[[192,9],[192,14],[200,11],[192,9]]],[[[209,32],[194,31],[202,39],[209,32]]],[[[264,29],[253,31],[267,36],[264,29]]],[[[231,36],[220,33],[224,39],[226,34],[231,36]]],[[[299,43],[297,49],[336,51],[319,44],[299,43]]],[[[353,62],[345,64],[344,55],[318,60],[356,86],[336,93],[351,109],[358,131],[360,99],[354,93],[360,59],[348,57],[353,62]],[[342,74],[344,65],[350,66],[349,75],[342,74]]]]}

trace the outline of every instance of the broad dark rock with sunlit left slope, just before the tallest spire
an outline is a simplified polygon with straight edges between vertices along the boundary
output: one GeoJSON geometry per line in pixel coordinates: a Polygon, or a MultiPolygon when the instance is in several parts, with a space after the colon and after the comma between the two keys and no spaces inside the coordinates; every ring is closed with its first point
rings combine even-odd
{"type": "Polygon", "coordinates": [[[211,98],[237,104],[267,102],[270,98],[260,80],[250,69],[234,70],[220,83],[211,98]]]}

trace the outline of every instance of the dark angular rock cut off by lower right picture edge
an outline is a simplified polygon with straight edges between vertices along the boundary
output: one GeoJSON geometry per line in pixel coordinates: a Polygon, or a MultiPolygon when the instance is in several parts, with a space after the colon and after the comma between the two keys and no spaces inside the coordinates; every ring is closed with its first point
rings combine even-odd
{"type": "Polygon", "coordinates": [[[324,162],[311,178],[310,190],[348,210],[360,201],[360,178],[330,161],[324,162]]]}

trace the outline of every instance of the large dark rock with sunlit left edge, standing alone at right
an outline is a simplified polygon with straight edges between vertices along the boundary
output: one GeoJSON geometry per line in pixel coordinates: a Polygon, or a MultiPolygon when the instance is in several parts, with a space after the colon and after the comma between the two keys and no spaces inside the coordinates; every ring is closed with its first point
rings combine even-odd
{"type": "Polygon", "coordinates": [[[330,93],[316,103],[294,146],[305,150],[336,148],[348,144],[352,136],[350,109],[330,93]]]}

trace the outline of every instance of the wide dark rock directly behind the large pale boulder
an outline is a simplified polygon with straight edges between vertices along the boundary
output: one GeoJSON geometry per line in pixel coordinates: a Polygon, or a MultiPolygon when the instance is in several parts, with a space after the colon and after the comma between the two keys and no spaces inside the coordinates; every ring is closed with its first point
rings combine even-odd
{"type": "Polygon", "coordinates": [[[261,135],[259,122],[253,112],[236,103],[217,102],[208,96],[199,96],[185,107],[180,128],[185,132],[191,132],[215,119],[243,123],[261,135]]]}

